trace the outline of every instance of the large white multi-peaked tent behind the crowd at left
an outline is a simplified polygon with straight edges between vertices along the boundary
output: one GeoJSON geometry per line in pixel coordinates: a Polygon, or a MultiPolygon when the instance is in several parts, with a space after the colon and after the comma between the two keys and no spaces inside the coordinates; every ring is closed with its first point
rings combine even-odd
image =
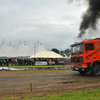
{"type": "Polygon", "coordinates": [[[28,47],[20,41],[16,47],[12,48],[11,42],[9,46],[6,46],[3,40],[0,46],[0,57],[30,57],[39,51],[47,51],[39,42],[34,47],[28,47]]]}

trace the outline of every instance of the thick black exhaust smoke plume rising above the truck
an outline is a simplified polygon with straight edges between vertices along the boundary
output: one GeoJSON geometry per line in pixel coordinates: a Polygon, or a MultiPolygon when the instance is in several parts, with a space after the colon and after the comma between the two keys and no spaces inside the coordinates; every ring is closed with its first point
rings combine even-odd
{"type": "MultiPolygon", "coordinates": [[[[73,2],[74,0],[69,0],[68,2],[73,2]]],[[[80,1],[80,0],[76,0],[80,1]]],[[[96,29],[97,22],[100,18],[100,0],[84,0],[88,3],[88,8],[82,17],[82,22],[80,24],[80,33],[78,38],[81,38],[85,34],[87,29],[96,29]]]]}

